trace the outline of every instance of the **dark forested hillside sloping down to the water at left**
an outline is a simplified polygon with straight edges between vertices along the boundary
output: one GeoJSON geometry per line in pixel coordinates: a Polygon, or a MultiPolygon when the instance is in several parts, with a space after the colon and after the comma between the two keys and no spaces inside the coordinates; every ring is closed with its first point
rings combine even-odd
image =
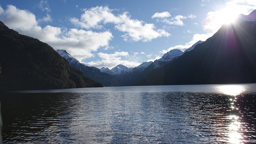
{"type": "Polygon", "coordinates": [[[0,91],[102,86],[70,66],[52,47],[0,22],[0,91]]]}

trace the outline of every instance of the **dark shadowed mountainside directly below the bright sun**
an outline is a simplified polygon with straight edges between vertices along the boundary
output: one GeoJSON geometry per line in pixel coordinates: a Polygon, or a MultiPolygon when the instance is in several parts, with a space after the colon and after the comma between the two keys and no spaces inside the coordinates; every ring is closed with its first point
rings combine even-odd
{"type": "Polygon", "coordinates": [[[256,82],[256,22],[223,25],[194,50],[153,70],[139,85],[256,82]]]}

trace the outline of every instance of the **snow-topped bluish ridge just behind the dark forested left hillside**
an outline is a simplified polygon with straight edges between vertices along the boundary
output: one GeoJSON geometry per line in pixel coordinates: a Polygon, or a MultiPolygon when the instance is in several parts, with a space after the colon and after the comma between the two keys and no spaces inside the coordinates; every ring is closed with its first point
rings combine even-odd
{"type": "Polygon", "coordinates": [[[114,76],[103,73],[100,69],[92,66],[86,66],[80,63],[76,58],[71,56],[66,50],[56,50],[63,58],[66,58],[71,66],[81,70],[88,78],[102,83],[104,86],[118,86],[118,82],[114,76]]]}

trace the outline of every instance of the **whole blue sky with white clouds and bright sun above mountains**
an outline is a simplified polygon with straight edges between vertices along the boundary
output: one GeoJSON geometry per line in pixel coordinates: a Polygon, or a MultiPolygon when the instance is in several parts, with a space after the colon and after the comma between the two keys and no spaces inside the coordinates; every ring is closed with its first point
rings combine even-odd
{"type": "Polygon", "coordinates": [[[256,0],[1,0],[0,20],[97,68],[135,67],[205,41],[256,0]]]}

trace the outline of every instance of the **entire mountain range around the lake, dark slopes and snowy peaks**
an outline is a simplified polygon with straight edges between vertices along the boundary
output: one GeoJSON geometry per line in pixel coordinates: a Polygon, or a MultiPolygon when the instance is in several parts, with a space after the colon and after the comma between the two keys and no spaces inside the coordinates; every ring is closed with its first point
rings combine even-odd
{"type": "Polygon", "coordinates": [[[256,82],[256,10],[248,16],[241,14],[236,23],[222,25],[205,42],[198,41],[184,52],[170,50],[162,58],[134,68],[86,66],[66,50],[56,52],[2,22],[0,40],[2,91],[256,82]]]}

